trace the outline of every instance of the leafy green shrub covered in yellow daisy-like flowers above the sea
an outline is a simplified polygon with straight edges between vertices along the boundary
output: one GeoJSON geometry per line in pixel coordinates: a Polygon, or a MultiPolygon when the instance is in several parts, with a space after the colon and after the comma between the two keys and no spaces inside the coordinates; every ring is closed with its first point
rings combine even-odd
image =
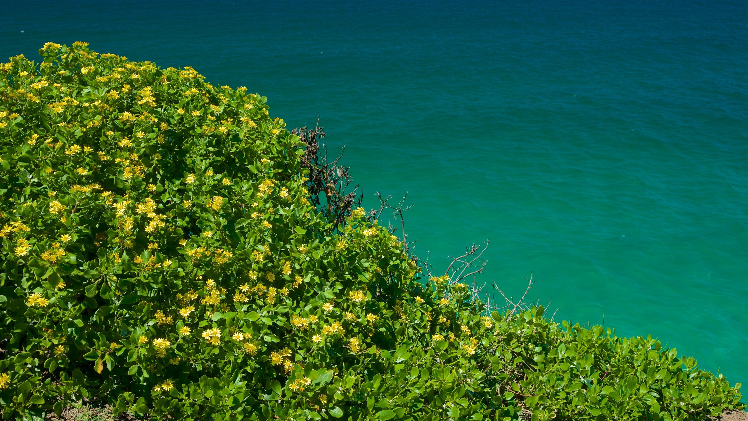
{"type": "Polygon", "coordinates": [[[183,420],[696,420],[739,384],[654,339],[488,312],[246,88],[85,43],[0,65],[0,405],[183,420]],[[335,216],[339,221],[340,215],[335,216]]]}

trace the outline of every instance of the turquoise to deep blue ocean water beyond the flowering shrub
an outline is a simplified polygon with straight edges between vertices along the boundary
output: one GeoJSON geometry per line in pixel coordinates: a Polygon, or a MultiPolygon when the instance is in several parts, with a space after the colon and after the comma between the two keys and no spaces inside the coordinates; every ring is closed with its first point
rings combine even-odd
{"type": "MultiPolygon", "coordinates": [[[[0,58],[46,41],[269,98],[346,145],[367,206],[408,192],[444,270],[488,267],[557,320],[652,334],[748,382],[748,6],[661,1],[40,1],[0,58]]],[[[382,218],[385,224],[389,216],[382,218]]],[[[394,221],[393,221],[394,222],[394,221]]]]}

